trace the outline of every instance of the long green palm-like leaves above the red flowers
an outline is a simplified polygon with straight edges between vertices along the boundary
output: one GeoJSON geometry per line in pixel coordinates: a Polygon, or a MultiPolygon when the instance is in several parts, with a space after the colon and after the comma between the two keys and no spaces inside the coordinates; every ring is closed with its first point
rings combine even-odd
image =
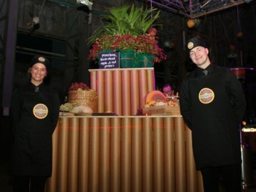
{"type": "Polygon", "coordinates": [[[160,11],[155,8],[143,9],[143,7],[134,7],[134,5],[125,5],[122,7],[112,7],[107,15],[103,15],[103,25],[98,28],[94,34],[89,37],[88,43],[92,44],[97,38],[109,36],[123,36],[130,34],[134,37],[144,34],[154,22],[159,18],[160,11]]]}

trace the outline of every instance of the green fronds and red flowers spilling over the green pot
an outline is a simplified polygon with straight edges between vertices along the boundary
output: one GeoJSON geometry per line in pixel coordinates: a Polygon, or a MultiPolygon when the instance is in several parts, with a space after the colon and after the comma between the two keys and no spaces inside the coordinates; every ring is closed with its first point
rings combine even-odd
{"type": "Polygon", "coordinates": [[[102,27],[88,39],[92,44],[89,59],[96,61],[102,51],[125,50],[154,55],[154,62],[166,59],[163,49],[158,47],[155,28],[153,35],[151,31],[160,11],[125,5],[113,7],[109,12],[109,15],[102,16],[105,19],[102,27]]]}

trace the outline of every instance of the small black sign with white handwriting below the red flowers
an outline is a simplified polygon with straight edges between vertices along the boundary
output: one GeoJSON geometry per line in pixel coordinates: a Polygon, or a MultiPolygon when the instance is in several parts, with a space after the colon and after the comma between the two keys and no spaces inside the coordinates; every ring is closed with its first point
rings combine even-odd
{"type": "Polygon", "coordinates": [[[98,63],[100,69],[119,68],[119,52],[100,53],[98,63]]]}

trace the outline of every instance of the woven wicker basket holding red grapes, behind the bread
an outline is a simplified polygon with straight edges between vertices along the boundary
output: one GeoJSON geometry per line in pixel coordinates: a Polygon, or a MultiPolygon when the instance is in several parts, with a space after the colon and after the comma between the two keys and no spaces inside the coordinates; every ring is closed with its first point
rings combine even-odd
{"type": "Polygon", "coordinates": [[[95,90],[69,91],[68,102],[77,103],[92,108],[93,112],[98,111],[98,94],[95,90]]]}

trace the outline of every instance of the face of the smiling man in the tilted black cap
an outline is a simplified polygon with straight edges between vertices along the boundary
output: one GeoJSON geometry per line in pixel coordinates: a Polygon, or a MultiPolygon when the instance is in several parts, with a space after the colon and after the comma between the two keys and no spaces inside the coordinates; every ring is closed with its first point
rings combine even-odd
{"type": "Polygon", "coordinates": [[[208,53],[209,51],[207,48],[198,46],[191,49],[191,51],[189,52],[189,57],[191,58],[193,63],[195,63],[200,68],[205,69],[210,64],[208,53]]]}

